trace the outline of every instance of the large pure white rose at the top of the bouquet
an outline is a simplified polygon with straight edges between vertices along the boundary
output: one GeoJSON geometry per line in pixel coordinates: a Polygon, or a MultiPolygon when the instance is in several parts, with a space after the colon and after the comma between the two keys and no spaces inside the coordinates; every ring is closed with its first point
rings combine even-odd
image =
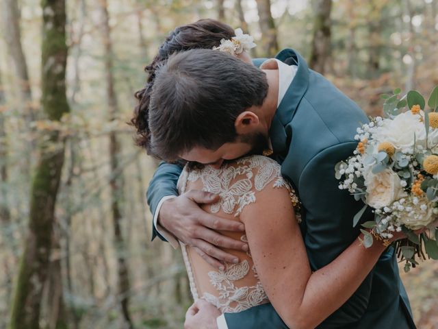
{"type": "Polygon", "coordinates": [[[412,114],[411,111],[398,114],[392,120],[384,119],[381,125],[374,129],[372,138],[379,142],[389,142],[396,149],[411,150],[415,134],[416,144],[425,146],[426,128],[420,119],[420,114],[412,114]]]}

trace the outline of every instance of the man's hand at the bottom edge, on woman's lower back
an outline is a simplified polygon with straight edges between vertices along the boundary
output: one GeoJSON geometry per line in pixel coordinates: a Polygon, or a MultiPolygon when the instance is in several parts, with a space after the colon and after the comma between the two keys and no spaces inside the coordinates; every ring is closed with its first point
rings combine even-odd
{"type": "Polygon", "coordinates": [[[185,313],[184,329],[217,329],[218,308],[205,300],[196,300],[185,313]]]}

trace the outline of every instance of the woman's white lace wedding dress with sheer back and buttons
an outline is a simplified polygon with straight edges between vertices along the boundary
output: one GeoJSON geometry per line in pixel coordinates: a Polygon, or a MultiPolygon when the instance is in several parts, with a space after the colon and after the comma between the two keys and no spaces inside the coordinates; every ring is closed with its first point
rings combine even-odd
{"type": "MultiPolygon", "coordinates": [[[[257,202],[257,192],[268,184],[275,188],[286,188],[292,203],[298,206],[294,191],[281,176],[280,165],[264,156],[248,156],[227,162],[220,169],[208,165],[202,169],[188,169],[186,165],[179,178],[178,189],[179,193],[201,189],[220,195],[218,203],[203,206],[203,209],[220,217],[240,221],[244,207],[257,202]]],[[[222,234],[247,242],[246,236],[239,232],[222,234]]],[[[250,252],[226,250],[237,256],[240,263],[224,264],[224,270],[218,271],[198,256],[192,247],[180,244],[194,300],[203,298],[222,313],[241,312],[268,302],[250,252]]]]}

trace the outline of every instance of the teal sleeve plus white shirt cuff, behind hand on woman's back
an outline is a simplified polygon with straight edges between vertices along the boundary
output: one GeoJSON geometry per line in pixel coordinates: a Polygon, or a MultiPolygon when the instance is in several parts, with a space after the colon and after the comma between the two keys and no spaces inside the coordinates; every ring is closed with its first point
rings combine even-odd
{"type": "Polygon", "coordinates": [[[178,195],[177,182],[181,171],[182,168],[178,164],[160,162],[146,193],[149,209],[153,214],[152,240],[155,239],[155,236],[158,236],[159,239],[172,243],[174,247],[176,247],[177,244],[175,245],[175,243],[177,241],[170,233],[158,225],[157,219],[163,202],[178,195]]]}

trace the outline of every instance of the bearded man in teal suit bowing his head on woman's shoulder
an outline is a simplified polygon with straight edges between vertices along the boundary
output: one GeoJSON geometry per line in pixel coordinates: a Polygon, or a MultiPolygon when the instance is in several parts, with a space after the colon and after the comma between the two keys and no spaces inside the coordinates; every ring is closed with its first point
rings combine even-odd
{"type": "MultiPolygon", "coordinates": [[[[248,153],[272,153],[298,191],[304,208],[302,235],[311,268],[317,270],[359,235],[352,217],[363,205],[339,190],[334,167],[357,147],[356,128],[368,119],[292,49],[264,62],[262,70],[256,66],[208,49],[170,58],[156,77],[151,98],[151,147],[166,160],[182,158],[218,167],[248,153]]],[[[245,249],[246,245],[211,229],[242,230],[238,227],[242,224],[198,208],[199,203],[216,201],[215,196],[193,191],[177,196],[180,172],[177,164],[164,162],[151,181],[148,202],[157,229],[154,236],[170,243],[176,236],[211,265],[220,266],[218,260],[232,262],[217,246],[245,249]]],[[[371,219],[370,212],[362,217],[371,219]]],[[[211,309],[202,305],[192,309],[186,328],[216,328],[217,315],[211,309]]],[[[271,304],[226,313],[217,324],[229,329],[287,328],[271,304]]],[[[318,328],[415,328],[392,247],[350,300],[318,328]]]]}

